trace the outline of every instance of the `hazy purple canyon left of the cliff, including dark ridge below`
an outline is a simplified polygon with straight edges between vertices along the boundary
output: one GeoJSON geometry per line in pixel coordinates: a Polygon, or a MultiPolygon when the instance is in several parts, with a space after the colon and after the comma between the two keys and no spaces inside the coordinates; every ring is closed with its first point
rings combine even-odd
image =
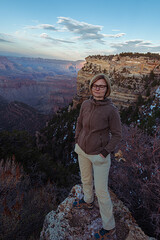
{"type": "Polygon", "coordinates": [[[83,61],[0,56],[0,131],[35,134],[76,94],[83,61]]]}

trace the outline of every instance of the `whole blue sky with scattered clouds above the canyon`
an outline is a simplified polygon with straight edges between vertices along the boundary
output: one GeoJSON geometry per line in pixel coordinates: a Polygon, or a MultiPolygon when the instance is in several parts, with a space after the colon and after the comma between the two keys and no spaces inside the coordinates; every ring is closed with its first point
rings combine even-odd
{"type": "Polygon", "coordinates": [[[159,0],[0,0],[0,55],[160,53],[159,0]]]}

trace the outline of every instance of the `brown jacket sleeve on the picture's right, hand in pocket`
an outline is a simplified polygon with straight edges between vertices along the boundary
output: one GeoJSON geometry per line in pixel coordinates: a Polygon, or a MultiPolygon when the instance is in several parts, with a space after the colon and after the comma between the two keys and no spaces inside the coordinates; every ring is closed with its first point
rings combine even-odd
{"type": "Polygon", "coordinates": [[[109,116],[109,127],[111,132],[111,138],[107,146],[101,151],[101,154],[106,157],[109,153],[113,152],[116,145],[119,143],[122,137],[122,127],[119,112],[116,108],[113,109],[109,116]]]}

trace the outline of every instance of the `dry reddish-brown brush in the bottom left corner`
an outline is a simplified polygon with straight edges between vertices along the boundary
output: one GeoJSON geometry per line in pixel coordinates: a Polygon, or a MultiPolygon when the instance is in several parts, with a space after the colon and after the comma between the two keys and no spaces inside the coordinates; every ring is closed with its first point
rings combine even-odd
{"type": "Polygon", "coordinates": [[[57,206],[56,187],[32,185],[22,166],[0,162],[0,239],[39,239],[45,215],[57,206]]]}

